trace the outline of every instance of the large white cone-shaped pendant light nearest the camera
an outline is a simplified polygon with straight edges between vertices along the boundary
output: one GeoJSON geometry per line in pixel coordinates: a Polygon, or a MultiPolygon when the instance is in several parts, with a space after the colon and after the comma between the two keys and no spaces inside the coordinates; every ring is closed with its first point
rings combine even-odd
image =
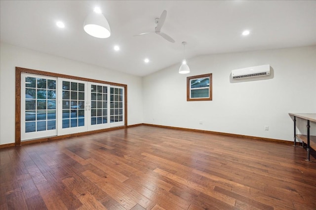
{"type": "Polygon", "coordinates": [[[108,38],[111,35],[109,22],[98,7],[85,18],[83,29],[97,38],[108,38]]]}

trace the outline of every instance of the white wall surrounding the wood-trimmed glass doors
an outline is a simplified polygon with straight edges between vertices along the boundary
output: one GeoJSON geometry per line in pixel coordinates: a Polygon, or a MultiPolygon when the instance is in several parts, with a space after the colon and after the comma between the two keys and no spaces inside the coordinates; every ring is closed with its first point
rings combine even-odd
{"type": "Polygon", "coordinates": [[[142,123],[142,78],[0,43],[0,144],[15,142],[15,67],[127,85],[128,125],[142,123]]]}

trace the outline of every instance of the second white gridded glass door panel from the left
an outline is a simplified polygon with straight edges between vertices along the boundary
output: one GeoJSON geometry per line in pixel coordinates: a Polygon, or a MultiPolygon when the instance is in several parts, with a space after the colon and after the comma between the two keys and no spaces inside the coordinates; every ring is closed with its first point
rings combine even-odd
{"type": "Polygon", "coordinates": [[[59,109],[58,135],[87,130],[87,82],[58,78],[59,109]]]}

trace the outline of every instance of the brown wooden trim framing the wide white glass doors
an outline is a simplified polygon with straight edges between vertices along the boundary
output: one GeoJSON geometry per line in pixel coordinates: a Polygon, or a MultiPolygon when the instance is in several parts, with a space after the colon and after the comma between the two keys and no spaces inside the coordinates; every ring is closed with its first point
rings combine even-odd
{"type": "MultiPolygon", "coordinates": [[[[58,73],[52,73],[52,72],[46,72],[46,71],[40,71],[40,70],[34,70],[34,69],[28,69],[28,68],[22,68],[22,67],[15,67],[15,145],[21,145],[21,73],[30,73],[30,74],[37,74],[37,75],[51,76],[51,77],[62,77],[66,79],[74,79],[74,80],[81,80],[85,82],[94,82],[94,83],[101,83],[101,84],[123,87],[124,88],[124,125],[123,126],[124,127],[127,126],[127,85],[106,82],[102,80],[94,80],[94,79],[88,79],[88,78],[83,78],[83,77],[70,76],[66,74],[58,74],[58,73]]],[[[108,129],[112,130],[113,128],[112,129],[108,128],[108,129]]],[[[106,129],[101,129],[100,131],[104,131],[104,130],[106,129]]],[[[98,132],[98,130],[94,132],[98,132]]],[[[87,131],[83,133],[90,134],[90,133],[93,133],[93,131],[87,131]]],[[[74,133],[73,135],[77,136],[78,134],[74,133]]],[[[72,135],[67,135],[67,137],[70,137],[70,136],[72,135]]],[[[60,136],[60,138],[64,138],[64,137],[60,136]]],[[[47,138],[44,138],[44,139],[47,139],[47,138]]],[[[52,139],[52,140],[59,139],[59,137],[55,136],[49,139],[52,139]]]]}

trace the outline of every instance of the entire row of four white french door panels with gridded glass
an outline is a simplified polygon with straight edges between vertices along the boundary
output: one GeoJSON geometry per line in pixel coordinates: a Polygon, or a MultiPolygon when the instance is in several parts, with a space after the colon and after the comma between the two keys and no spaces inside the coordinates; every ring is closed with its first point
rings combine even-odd
{"type": "Polygon", "coordinates": [[[21,74],[21,141],[124,125],[124,88],[21,74]]]}

